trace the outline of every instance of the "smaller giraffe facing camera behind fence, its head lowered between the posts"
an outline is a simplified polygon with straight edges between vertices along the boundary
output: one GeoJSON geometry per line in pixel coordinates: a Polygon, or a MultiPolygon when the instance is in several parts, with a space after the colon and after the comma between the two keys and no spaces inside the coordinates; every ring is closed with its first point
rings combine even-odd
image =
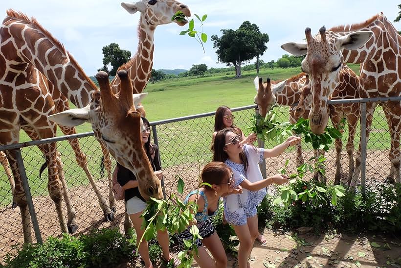
{"type": "MultiPolygon", "coordinates": [[[[292,124],[295,123],[294,107],[299,101],[300,89],[304,86],[306,80],[305,73],[299,73],[281,82],[270,81],[267,78],[266,83],[262,83],[262,78],[256,76],[253,81],[256,89],[254,102],[258,105],[261,116],[265,117],[273,104],[277,103],[281,106],[290,106],[290,122],[292,124]]],[[[304,163],[301,143],[297,144],[296,151],[296,166],[299,167],[304,163]]]]}

